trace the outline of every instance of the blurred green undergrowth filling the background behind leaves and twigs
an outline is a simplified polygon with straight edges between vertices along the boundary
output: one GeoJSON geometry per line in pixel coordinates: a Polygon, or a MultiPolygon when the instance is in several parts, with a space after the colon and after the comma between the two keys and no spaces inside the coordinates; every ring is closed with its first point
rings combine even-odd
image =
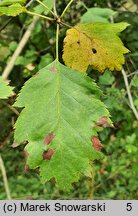
{"type": "MultiPolygon", "coordinates": [[[[60,14],[66,4],[57,1],[60,14]]],[[[31,7],[37,5],[33,3],[31,7]]],[[[80,22],[86,7],[111,7],[117,13],[115,22],[126,21],[131,26],[122,34],[125,46],[131,50],[126,56],[125,70],[128,75],[138,67],[138,14],[137,7],[132,1],[77,1],[65,15],[65,22],[75,25],[80,22]],[[124,11],[125,10],[125,11],[124,11]]],[[[36,8],[38,10],[38,7],[36,8]]],[[[39,9],[40,10],[40,9],[39,9]]],[[[0,18],[0,27],[9,20],[0,18]]],[[[28,24],[32,18],[26,14],[12,18],[10,23],[0,33],[0,74],[8,64],[13,52],[18,46],[28,24]],[[15,31],[16,30],[16,31],[15,31]]],[[[15,67],[10,74],[14,91],[19,92],[22,85],[43,66],[48,65],[55,58],[55,30],[53,23],[39,20],[31,34],[25,49],[18,57],[15,67]]],[[[60,60],[62,62],[63,39],[66,28],[60,34],[60,60]]],[[[104,92],[103,102],[107,105],[114,128],[105,129],[100,133],[104,144],[105,157],[95,161],[95,199],[137,199],[138,181],[138,122],[132,110],[126,93],[121,72],[106,71],[103,75],[89,69],[89,75],[96,80],[104,92]]],[[[135,73],[128,77],[135,106],[138,108],[138,76],[135,73]]],[[[70,193],[63,193],[54,181],[43,185],[38,175],[29,171],[24,172],[24,155],[22,147],[12,149],[13,124],[17,115],[11,110],[14,98],[0,101],[0,153],[5,163],[11,196],[13,199],[89,199],[91,198],[91,179],[82,177],[80,182],[73,185],[70,193]]],[[[18,110],[20,111],[20,110],[18,110]]],[[[6,199],[2,176],[0,175],[0,199],[6,199]]]]}

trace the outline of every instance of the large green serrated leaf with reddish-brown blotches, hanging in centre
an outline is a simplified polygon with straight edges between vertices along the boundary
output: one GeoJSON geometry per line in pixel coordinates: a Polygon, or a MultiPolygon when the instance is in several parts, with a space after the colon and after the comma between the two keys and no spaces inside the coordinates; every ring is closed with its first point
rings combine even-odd
{"type": "Polygon", "coordinates": [[[54,177],[69,190],[81,174],[91,175],[90,161],[101,157],[91,143],[95,125],[102,116],[109,118],[101,94],[86,74],[58,61],[22,88],[15,103],[24,107],[15,125],[15,144],[28,142],[27,164],[40,168],[44,182],[54,177]]]}

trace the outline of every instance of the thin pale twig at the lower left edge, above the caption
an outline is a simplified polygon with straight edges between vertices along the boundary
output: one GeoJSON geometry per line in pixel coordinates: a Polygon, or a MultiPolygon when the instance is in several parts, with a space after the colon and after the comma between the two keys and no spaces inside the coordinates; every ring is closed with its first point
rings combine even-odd
{"type": "Polygon", "coordinates": [[[9,184],[8,184],[8,180],[7,180],[6,169],[5,169],[4,162],[3,162],[1,155],[0,155],[0,169],[2,172],[3,183],[4,183],[7,199],[11,200],[12,198],[11,198],[9,184]]]}

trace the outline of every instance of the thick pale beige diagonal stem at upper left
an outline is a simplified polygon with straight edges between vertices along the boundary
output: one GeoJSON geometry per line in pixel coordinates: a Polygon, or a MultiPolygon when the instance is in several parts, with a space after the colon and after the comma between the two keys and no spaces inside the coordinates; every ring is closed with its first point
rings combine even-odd
{"type": "Polygon", "coordinates": [[[27,41],[30,38],[31,32],[33,31],[36,22],[38,21],[38,17],[34,17],[32,23],[29,25],[28,29],[26,30],[26,32],[24,33],[21,41],[19,42],[19,45],[17,47],[17,49],[15,50],[13,56],[11,57],[11,60],[9,62],[9,64],[6,66],[6,68],[3,71],[2,77],[4,80],[6,80],[9,76],[9,74],[11,73],[14,64],[16,62],[17,57],[20,55],[20,53],[22,52],[23,48],[25,47],[27,41]]]}

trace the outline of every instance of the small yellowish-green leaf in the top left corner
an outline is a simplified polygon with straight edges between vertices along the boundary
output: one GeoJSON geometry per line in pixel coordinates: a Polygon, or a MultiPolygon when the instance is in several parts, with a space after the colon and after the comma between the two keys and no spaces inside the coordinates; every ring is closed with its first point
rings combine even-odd
{"type": "Polygon", "coordinates": [[[20,13],[26,12],[26,8],[22,7],[20,4],[12,4],[7,7],[0,7],[0,16],[17,16],[20,13]]]}

